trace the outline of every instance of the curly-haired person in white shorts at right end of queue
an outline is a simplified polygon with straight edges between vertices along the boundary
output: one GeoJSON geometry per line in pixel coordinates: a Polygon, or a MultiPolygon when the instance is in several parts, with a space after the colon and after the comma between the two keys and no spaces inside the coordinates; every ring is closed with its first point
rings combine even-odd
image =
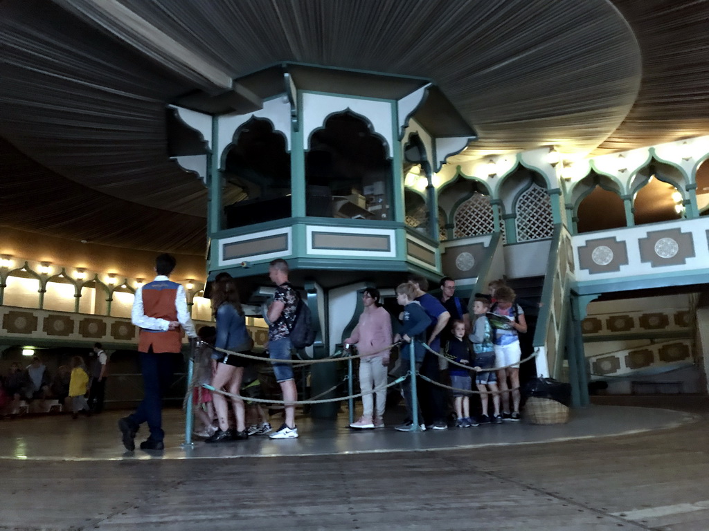
{"type": "Polygon", "coordinates": [[[494,329],[493,343],[495,348],[495,367],[502,396],[502,418],[508,421],[520,420],[520,359],[522,350],[518,334],[527,332],[525,314],[519,304],[515,303],[515,292],[508,286],[500,286],[495,291],[496,302],[490,307],[490,312],[505,316],[509,324],[505,329],[494,329]],[[509,382],[509,385],[508,385],[509,382]],[[510,391],[511,389],[511,391],[510,391]],[[512,411],[510,412],[510,393],[512,394],[512,411]]]}

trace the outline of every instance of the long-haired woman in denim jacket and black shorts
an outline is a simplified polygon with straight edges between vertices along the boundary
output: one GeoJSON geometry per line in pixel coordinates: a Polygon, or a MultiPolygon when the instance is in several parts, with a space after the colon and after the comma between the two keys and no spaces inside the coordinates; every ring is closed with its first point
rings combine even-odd
{"type": "MultiPolygon", "coordinates": [[[[216,282],[212,292],[212,312],[216,319],[216,348],[238,353],[250,353],[253,341],[246,329],[244,310],[239,300],[239,290],[233,278],[216,282]]],[[[234,354],[215,350],[217,358],[212,387],[217,391],[225,389],[232,395],[231,404],[236,420],[235,430],[229,428],[229,408],[226,396],[215,392],[212,395],[219,428],[206,442],[227,442],[248,438],[244,411],[244,400],[240,396],[244,367],[248,360],[234,354]]]]}

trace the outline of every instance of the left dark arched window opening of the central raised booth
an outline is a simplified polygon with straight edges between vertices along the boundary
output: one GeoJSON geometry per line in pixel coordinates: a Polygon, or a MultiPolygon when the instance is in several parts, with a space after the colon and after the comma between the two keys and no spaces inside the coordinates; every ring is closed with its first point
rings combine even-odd
{"type": "Polygon", "coordinates": [[[291,215],[291,156],[286,139],[269,120],[251,118],[224,163],[225,227],[283,219],[291,215]]]}

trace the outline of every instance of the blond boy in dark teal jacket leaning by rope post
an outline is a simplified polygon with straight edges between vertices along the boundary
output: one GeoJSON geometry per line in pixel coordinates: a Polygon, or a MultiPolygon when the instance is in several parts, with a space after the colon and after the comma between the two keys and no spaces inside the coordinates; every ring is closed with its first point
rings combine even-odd
{"type": "MultiPolygon", "coordinates": [[[[406,343],[414,343],[414,357],[416,369],[421,366],[423,362],[423,356],[425,355],[425,348],[423,343],[426,341],[426,329],[431,324],[431,319],[426,314],[421,304],[414,299],[416,298],[416,287],[411,284],[411,282],[405,282],[396,287],[396,302],[404,307],[403,309],[403,323],[401,324],[401,329],[403,331],[403,336],[401,339],[406,343]]],[[[398,336],[398,334],[397,334],[398,336]]],[[[394,338],[394,341],[398,341],[398,337],[394,338]]],[[[411,347],[408,344],[401,347],[401,367],[406,372],[411,364],[411,347]]],[[[413,376],[412,376],[413,377],[413,376]]],[[[413,418],[413,396],[411,394],[411,378],[408,377],[401,384],[401,395],[404,401],[406,401],[406,409],[408,413],[413,418]]],[[[425,430],[423,425],[423,414],[421,413],[420,406],[418,407],[418,420],[421,423],[421,430],[425,430]]],[[[413,431],[415,427],[413,426],[413,421],[405,422],[401,426],[396,426],[398,431],[413,431]]]]}

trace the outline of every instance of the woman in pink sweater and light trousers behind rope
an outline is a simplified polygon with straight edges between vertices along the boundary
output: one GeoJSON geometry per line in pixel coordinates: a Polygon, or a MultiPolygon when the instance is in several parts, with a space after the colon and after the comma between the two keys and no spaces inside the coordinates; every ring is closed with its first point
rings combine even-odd
{"type": "Polygon", "coordinates": [[[359,354],[359,387],[362,393],[364,412],[359,421],[350,428],[384,428],[384,406],[386,405],[386,372],[389,365],[391,346],[391,317],[379,306],[379,290],[368,287],[362,293],[364,312],[345,344],[356,344],[359,354]],[[374,392],[372,392],[374,391],[374,392]],[[374,395],[376,394],[376,416],[374,416],[374,395]]]}

